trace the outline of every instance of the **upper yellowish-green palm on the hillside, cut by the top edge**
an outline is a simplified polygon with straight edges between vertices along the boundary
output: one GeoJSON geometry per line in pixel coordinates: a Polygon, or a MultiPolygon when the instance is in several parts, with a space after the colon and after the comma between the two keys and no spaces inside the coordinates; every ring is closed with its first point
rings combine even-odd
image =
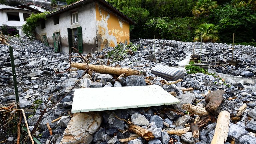
{"type": "Polygon", "coordinates": [[[198,0],[196,5],[192,9],[192,13],[195,17],[199,17],[201,15],[203,15],[204,17],[208,17],[210,10],[216,8],[217,6],[217,1],[198,0]]]}

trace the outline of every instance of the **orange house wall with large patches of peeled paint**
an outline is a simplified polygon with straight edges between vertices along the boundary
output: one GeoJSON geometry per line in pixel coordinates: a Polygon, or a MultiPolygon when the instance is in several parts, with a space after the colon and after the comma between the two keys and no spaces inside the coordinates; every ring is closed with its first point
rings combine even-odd
{"type": "Polygon", "coordinates": [[[98,3],[95,8],[99,48],[115,47],[119,42],[129,43],[129,23],[98,3]]]}

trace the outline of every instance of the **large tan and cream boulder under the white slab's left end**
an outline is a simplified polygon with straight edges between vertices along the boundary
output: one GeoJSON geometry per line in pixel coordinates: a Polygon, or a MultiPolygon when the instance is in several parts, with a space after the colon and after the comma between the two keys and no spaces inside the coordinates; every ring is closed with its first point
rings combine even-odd
{"type": "Polygon", "coordinates": [[[90,144],[102,122],[102,117],[96,112],[76,113],[68,123],[60,144],[90,144]]]}

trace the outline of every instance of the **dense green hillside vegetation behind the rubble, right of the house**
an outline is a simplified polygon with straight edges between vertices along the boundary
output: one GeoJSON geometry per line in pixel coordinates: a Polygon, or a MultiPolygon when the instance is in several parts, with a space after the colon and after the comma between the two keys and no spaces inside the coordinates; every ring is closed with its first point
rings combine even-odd
{"type": "Polygon", "coordinates": [[[256,0],[107,0],[136,22],[131,38],[251,43],[256,0]]]}

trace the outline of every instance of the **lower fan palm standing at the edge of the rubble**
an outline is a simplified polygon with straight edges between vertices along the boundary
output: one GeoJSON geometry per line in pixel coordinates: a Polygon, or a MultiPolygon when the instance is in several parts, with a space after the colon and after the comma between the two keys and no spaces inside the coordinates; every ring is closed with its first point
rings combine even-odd
{"type": "Polygon", "coordinates": [[[212,41],[216,42],[219,41],[219,37],[217,35],[218,29],[217,26],[211,23],[203,23],[198,26],[198,29],[196,30],[196,36],[195,40],[199,41],[201,40],[201,35],[202,35],[202,40],[204,42],[207,41],[212,41]]]}

